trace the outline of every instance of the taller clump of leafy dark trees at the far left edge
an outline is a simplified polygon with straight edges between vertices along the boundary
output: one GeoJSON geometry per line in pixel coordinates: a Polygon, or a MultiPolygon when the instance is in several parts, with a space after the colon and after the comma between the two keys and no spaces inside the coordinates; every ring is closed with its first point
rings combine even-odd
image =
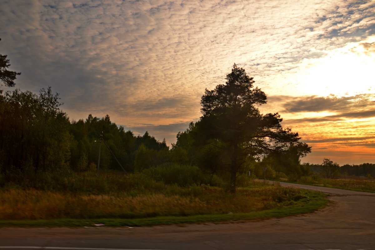
{"type": "Polygon", "coordinates": [[[16,89],[0,96],[1,173],[30,173],[69,166],[69,120],[51,87],[39,96],[16,89]]]}

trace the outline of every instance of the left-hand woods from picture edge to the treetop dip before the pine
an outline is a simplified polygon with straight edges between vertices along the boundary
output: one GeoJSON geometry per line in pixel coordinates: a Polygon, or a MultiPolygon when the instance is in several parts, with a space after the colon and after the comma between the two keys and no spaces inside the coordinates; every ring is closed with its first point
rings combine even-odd
{"type": "Polygon", "coordinates": [[[117,126],[106,115],[69,121],[60,109],[58,94],[51,88],[39,95],[30,91],[0,94],[0,173],[3,175],[37,174],[38,172],[86,171],[95,169],[102,145],[101,168],[126,171],[159,165],[169,160],[169,148],[147,132],[135,136],[117,126]]]}

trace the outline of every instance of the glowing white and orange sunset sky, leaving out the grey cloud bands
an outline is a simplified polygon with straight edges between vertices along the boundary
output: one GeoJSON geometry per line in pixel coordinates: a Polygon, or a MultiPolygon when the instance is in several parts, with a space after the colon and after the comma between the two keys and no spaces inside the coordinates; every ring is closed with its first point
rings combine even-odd
{"type": "MultiPolygon", "coordinates": [[[[369,102],[374,103],[375,96],[375,50],[366,50],[364,44],[374,44],[375,36],[368,37],[360,42],[351,42],[342,48],[332,51],[321,51],[325,54],[320,58],[303,59],[296,73],[286,76],[283,79],[285,89],[288,91],[279,91],[279,94],[289,96],[317,96],[325,98],[340,98],[347,96],[360,96],[363,94],[372,94],[369,102]],[[295,87],[290,92],[291,82],[295,87]]],[[[276,90],[276,89],[275,89],[276,90]]],[[[351,99],[348,103],[356,106],[359,100],[351,99]]],[[[373,106],[373,108],[375,108],[373,106]]],[[[292,112],[282,115],[284,117],[284,126],[290,126],[288,119],[293,119],[293,131],[299,132],[302,140],[308,142],[312,146],[312,154],[302,159],[303,162],[319,163],[319,159],[324,154],[333,153],[335,160],[341,164],[345,162],[348,156],[359,155],[359,161],[373,161],[375,149],[374,147],[366,147],[375,145],[375,139],[368,139],[368,136],[374,131],[375,118],[345,118],[336,121],[322,121],[317,126],[303,123],[304,118],[324,118],[332,116],[340,116],[341,110],[329,111],[321,110],[318,112],[292,112]],[[300,122],[296,119],[302,119],[300,122]],[[350,138],[363,137],[363,139],[350,138]],[[344,142],[314,142],[321,139],[337,139],[347,138],[344,142]],[[311,142],[309,142],[311,141],[311,142]],[[361,144],[361,146],[354,146],[361,144]],[[348,146],[351,145],[351,146],[348,146]],[[342,151],[343,156],[338,156],[342,151]],[[314,156],[317,155],[317,156],[314,156]]],[[[373,109],[375,110],[375,109],[373,109]]],[[[357,111],[363,111],[361,109],[357,111]]],[[[283,112],[281,111],[281,114],[283,112]]],[[[327,158],[329,158],[327,156],[327,158]]],[[[322,162],[323,160],[321,160],[322,162]]],[[[352,162],[353,163],[353,162],[352,162]]]]}

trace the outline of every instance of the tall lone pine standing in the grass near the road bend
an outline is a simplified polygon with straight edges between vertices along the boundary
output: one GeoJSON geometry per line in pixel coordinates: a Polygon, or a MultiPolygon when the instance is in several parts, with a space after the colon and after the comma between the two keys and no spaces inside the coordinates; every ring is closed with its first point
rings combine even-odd
{"type": "MultiPolygon", "coordinates": [[[[253,78],[234,64],[226,83],[206,89],[201,100],[199,137],[225,152],[232,193],[236,192],[237,173],[249,159],[259,160],[291,145],[306,145],[299,142],[298,133],[281,126],[278,113],[260,113],[258,106],[266,103],[266,94],[253,84],[253,78]]],[[[305,151],[310,151],[307,145],[305,151]]]]}

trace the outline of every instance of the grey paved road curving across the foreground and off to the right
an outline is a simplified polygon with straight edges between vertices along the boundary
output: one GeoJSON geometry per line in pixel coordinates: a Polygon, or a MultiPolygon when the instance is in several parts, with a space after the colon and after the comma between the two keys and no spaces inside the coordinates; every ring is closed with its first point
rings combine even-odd
{"type": "Polygon", "coordinates": [[[329,193],[333,205],[312,214],[255,222],[147,228],[0,228],[0,250],[10,249],[6,246],[86,250],[375,250],[374,193],[287,183],[282,186],[329,193]]]}

